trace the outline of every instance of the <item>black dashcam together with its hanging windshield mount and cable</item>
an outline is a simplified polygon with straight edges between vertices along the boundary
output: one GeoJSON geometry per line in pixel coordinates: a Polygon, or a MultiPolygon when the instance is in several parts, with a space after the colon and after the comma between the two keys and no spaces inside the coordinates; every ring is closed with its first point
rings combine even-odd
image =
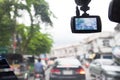
{"type": "Polygon", "coordinates": [[[90,9],[88,4],[91,0],[75,0],[76,16],[71,18],[72,33],[96,33],[101,32],[101,19],[96,15],[89,15],[90,9]],[[80,7],[80,8],[79,8],[80,7]],[[80,10],[83,14],[80,14],[80,10]],[[88,24],[89,23],[89,24],[88,24]]]}

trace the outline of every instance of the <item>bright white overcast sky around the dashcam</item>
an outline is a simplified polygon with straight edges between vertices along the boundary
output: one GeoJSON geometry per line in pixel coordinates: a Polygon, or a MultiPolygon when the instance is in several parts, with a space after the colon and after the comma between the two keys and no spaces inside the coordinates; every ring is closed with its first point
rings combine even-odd
{"type": "MultiPolygon", "coordinates": [[[[46,0],[49,3],[50,10],[57,19],[52,19],[53,28],[49,29],[54,39],[54,46],[61,46],[75,42],[82,42],[92,34],[74,34],[71,32],[70,20],[75,16],[76,4],[74,0],[46,0]]],[[[89,3],[90,15],[99,15],[102,21],[103,31],[114,31],[116,23],[108,19],[108,7],[110,0],[91,0],[89,3]]],[[[82,13],[82,12],[81,12],[82,13]]]]}

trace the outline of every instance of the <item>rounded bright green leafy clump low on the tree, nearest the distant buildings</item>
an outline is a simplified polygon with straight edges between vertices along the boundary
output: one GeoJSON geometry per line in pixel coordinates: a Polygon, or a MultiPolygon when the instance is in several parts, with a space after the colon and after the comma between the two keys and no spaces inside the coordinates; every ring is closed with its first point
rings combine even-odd
{"type": "Polygon", "coordinates": [[[49,34],[42,34],[37,32],[34,38],[31,40],[28,51],[29,53],[41,54],[49,53],[52,47],[53,40],[49,34]]]}

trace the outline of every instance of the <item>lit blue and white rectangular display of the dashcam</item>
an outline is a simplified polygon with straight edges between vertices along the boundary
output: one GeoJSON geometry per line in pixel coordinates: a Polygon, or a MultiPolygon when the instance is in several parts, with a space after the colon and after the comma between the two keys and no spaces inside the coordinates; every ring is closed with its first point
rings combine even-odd
{"type": "Polygon", "coordinates": [[[75,30],[97,30],[97,19],[75,18],[75,30]]]}

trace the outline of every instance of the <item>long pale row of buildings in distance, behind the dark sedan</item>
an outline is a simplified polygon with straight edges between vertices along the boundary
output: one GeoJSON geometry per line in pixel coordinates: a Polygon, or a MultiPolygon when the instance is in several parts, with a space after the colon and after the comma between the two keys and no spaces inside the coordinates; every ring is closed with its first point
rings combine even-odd
{"type": "Polygon", "coordinates": [[[84,53],[83,43],[74,43],[55,47],[51,50],[49,57],[75,57],[84,53]]]}

